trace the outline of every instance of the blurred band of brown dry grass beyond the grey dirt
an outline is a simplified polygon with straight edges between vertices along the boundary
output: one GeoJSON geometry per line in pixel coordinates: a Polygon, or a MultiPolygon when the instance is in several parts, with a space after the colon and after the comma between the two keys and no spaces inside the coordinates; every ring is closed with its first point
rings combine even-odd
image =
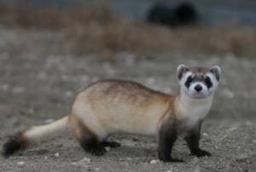
{"type": "Polygon", "coordinates": [[[256,32],[249,27],[171,29],[126,20],[114,14],[108,5],[70,6],[67,9],[36,9],[27,5],[1,4],[0,22],[24,29],[67,30],[61,40],[63,49],[74,53],[99,53],[112,56],[120,51],[152,54],[256,54],[256,32]]]}

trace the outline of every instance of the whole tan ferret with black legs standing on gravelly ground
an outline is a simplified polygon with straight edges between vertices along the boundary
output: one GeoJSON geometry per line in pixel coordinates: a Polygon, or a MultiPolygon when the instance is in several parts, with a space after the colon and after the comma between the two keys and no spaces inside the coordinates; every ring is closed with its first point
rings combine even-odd
{"type": "Polygon", "coordinates": [[[183,135],[192,156],[209,157],[199,146],[201,123],[212,106],[218,88],[219,66],[177,66],[180,92],[167,95],[141,83],[102,79],[90,83],[73,100],[70,114],[46,125],[35,126],[9,137],[3,144],[3,157],[24,150],[32,143],[69,128],[85,152],[102,156],[110,135],[148,135],[157,140],[160,161],[183,162],[172,157],[177,137],[183,135]]]}

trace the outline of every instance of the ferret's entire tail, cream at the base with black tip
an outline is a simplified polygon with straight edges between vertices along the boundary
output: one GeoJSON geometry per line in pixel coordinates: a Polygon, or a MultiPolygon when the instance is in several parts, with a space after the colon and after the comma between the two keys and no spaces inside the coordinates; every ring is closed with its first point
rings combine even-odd
{"type": "Polygon", "coordinates": [[[54,123],[46,125],[34,126],[30,129],[26,129],[23,132],[19,132],[16,135],[9,137],[5,143],[3,143],[2,155],[4,158],[9,158],[15,152],[25,150],[32,143],[38,142],[50,135],[60,132],[61,130],[67,129],[69,116],[61,118],[54,123]]]}

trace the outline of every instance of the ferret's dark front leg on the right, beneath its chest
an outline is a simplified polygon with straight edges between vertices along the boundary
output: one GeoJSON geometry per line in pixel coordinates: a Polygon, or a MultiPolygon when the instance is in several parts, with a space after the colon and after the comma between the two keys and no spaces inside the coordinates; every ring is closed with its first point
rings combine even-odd
{"type": "Polygon", "coordinates": [[[211,153],[201,150],[199,146],[201,123],[202,121],[198,122],[195,125],[195,128],[189,129],[185,140],[189,146],[189,151],[191,152],[192,156],[195,155],[196,157],[210,157],[211,153]]]}

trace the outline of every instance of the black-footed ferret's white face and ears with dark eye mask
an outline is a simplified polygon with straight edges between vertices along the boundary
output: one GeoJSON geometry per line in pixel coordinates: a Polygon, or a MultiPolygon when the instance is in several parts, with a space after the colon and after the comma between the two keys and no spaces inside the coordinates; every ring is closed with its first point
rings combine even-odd
{"type": "Polygon", "coordinates": [[[188,95],[193,99],[204,99],[214,94],[220,81],[221,69],[219,66],[177,67],[177,80],[181,94],[188,95]]]}

